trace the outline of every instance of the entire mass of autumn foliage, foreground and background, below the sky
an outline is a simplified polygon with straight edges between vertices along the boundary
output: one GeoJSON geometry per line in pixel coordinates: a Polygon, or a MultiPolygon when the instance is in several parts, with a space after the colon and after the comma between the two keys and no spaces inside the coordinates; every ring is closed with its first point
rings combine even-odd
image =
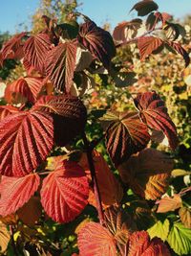
{"type": "Polygon", "coordinates": [[[0,51],[24,70],[0,106],[2,255],[189,255],[189,86],[171,83],[182,58],[190,74],[183,28],[147,0],[112,36],[75,1],[50,18],[53,2],[0,51]]]}

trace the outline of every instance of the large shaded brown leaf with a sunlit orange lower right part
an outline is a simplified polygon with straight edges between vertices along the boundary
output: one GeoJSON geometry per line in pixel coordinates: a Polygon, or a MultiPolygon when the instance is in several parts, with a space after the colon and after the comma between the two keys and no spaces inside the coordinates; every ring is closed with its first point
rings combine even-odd
{"type": "Polygon", "coordinates": [[[155,200],[165,193],[173,165],[173,160],[164,153],[145,149],[118,166],[118,172],[136,194],[155,200]]]}

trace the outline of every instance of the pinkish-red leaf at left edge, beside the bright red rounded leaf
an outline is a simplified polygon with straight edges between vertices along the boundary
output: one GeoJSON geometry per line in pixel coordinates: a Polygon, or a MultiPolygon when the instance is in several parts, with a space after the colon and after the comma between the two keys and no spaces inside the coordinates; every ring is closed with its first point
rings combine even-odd
{"type": "Polygon", "coordinates": [[[7,216],[22,207],[38,189],[40,177],[37,174],[23,177],[2,176],[0,183],[0,215],[7,216]]]}

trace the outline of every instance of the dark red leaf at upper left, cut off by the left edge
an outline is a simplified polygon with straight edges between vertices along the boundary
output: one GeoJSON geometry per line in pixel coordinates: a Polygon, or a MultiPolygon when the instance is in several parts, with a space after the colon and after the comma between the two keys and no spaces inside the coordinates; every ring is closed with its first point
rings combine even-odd
{"type": "Polygon", "coordinates": [[[1,49],[0,56],[2,58],[2,62],[7,58],[22,58],[23,57],[23,42],[22,39],[27,35],[27,33],[22,32],[18,35],[14,35],[11,37],[9,41],[7,41],[3,48],[1,49]]]}

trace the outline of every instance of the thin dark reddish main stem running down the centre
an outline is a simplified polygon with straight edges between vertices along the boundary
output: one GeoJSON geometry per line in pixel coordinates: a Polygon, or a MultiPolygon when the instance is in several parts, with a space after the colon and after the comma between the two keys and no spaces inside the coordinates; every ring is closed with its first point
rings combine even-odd
{"type": "Polygon", "coordinates": [[[91,172],[91,176],[92,176],[98,218],[99,218],[100,223],[103,224],[104,223],[103,208],[101,205],[101,197],[100,197],[100,192],[98,189],[98,182],[97,182],[97,178],[96,178],[96,170],[95,170],[94,159],[93,159],[93,154],[92,154],[93,148],[91,147],[91,144],[88,141],[85,132],[83,132],[82,137],[83,137],[84,146],[86,148],[88,163],[89,163],[90,172],[91,172]]]}

